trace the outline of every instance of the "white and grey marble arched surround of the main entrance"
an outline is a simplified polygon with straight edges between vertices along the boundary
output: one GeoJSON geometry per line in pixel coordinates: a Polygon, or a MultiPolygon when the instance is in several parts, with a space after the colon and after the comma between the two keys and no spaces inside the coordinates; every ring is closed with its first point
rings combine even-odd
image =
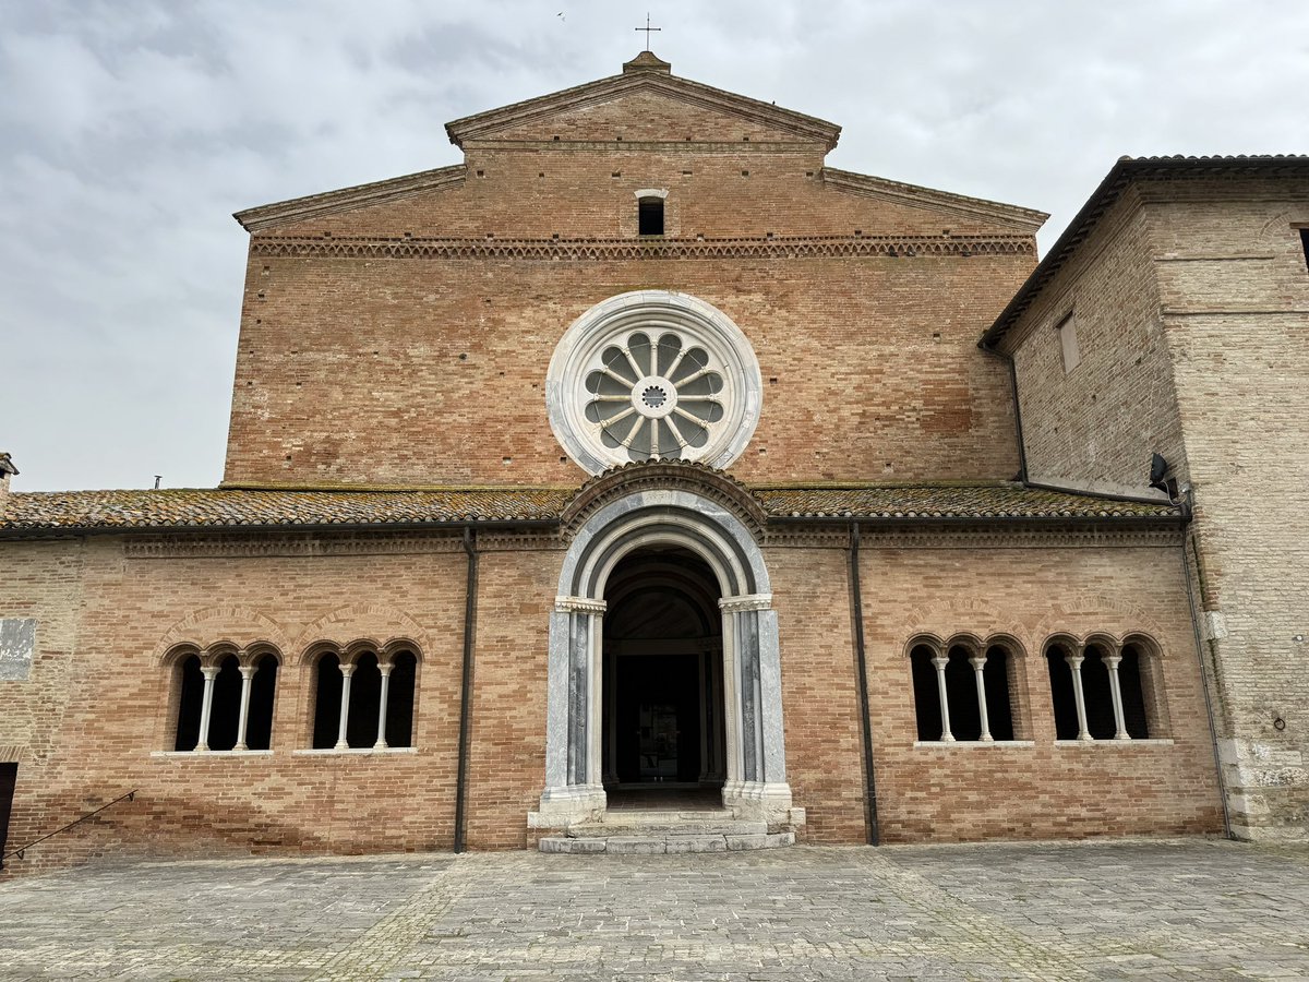
{"type": "Polygon", "coordinates": [[[605,584],[643,546],[682,546],[713,571],[723,615],[724,805],[785,822],[791,812],[781,718],[778,615],[763,554],[730,511],[689,490],[632,491],[590,515],[559,573],[550,614],[546,787],[533,824],[562,827],[605,810],[601,672],[605,584]]]}

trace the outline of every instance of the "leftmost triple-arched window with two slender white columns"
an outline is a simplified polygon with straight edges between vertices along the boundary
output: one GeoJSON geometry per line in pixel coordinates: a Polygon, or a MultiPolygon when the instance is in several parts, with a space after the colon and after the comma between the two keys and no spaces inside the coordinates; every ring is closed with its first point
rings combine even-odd
{"type": "Polygon", "coordinates": [[[278,655],[267,646],[238,651],[223,644],[174,659],[177,718],[173,749],[268,750],[278,685],[278,655]]]}

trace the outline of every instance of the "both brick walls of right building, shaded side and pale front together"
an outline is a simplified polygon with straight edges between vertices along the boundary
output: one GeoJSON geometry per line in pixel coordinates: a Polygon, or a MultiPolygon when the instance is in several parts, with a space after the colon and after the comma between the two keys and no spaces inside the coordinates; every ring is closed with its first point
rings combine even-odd
{"type": "Polygon", "coordinates": [[[1292,178],[1136,181],[1005,342],[1034,479],[1144,490],[1157,450],[1192,487],[1196,617],[1251,838],[1309,834],[1306,221],[1292,178]],[[1083,363],[1064,376],[1069,309],[1083,363]]]}

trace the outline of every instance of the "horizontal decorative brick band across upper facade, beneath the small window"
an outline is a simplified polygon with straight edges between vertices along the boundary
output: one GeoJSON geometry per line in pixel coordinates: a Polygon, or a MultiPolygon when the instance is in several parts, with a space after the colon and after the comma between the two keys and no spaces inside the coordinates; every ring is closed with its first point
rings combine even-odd
{"type": "Polygon", "coordinates": [[[250,254],[334,259],[804,259],[1034,255],[1030,236],[774,236],[758,238],[416,238],[258,236],[250,254]]]}

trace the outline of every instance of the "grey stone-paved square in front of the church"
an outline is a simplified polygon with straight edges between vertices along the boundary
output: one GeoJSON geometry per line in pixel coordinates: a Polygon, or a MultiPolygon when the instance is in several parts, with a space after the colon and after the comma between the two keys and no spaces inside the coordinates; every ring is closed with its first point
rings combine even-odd
{"type": "Polygon", "coordinates": [[[1309,848],[98,865],[0,881],[0,978],[1309,978],[1309,848]]]}

